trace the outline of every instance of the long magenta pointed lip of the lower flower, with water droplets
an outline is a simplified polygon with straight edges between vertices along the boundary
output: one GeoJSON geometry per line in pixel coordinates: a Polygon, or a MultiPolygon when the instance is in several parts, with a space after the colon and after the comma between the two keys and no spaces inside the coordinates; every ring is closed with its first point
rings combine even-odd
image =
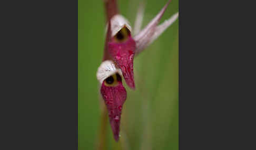
{"type": "Polygon", "coordinates": [[[119,141],[120,120],[123,104],[126,100],[126,90],[122,81],[118,81],[115,87],[107,87],[104,82],[101,86],[101,94],[109,112],[110,124],[115,141],[119,141]]]}

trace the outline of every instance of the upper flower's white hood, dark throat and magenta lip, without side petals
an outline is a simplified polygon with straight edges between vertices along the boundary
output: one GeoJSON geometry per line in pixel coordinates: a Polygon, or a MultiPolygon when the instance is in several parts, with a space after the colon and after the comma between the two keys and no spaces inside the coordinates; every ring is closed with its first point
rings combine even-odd
{"type": "Polygon", "coordinates": [[[107,33],[111,33],[112,36],[107,40],[105,49],[111,56],[111,59],[116,63],[116,66],[122,69],[122,74],[127,85],[131,89],[135,89],[133,58],[136,43],[131,37],[131,30],[129,28],[131,29],[130,25],[127,24],[127,20],[121,15],[114,16],[107,29],[107,33]]]}

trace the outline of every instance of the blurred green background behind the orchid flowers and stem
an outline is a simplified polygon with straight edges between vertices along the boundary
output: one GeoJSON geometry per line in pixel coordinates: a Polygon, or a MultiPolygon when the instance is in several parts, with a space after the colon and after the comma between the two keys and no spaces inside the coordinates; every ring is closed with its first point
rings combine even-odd
{"type": "MultiPolygon", "coordinates": [[[[138,0],[117,1],[120,13],[134,25],[138,0]]],[[[168,0],[148,0],[142,28],[168,0]]],[[[160,23],[178,12],[173,0],[160,23]]],[[[78,0],[78,149],[96,149],[101,110],[96,71],[105,38],[103,0],[78,0]]],[[[121,137],[114,141],[107,121],[106,149],[178,149],[179,142],[179,20],[134,59],[136,90],[127,88],[123,105],[121,137]],[[120,140],[122,141],[122,140],[120,140]]]]}

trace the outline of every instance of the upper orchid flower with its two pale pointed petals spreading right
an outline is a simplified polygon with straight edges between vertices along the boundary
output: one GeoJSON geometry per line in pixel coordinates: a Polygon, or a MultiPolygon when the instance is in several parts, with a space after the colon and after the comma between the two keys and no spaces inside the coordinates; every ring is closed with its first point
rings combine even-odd
{"type": "Polygon", "coordinates": [[[126,84],[132,89],[135,89],[133,73],[134,56],[149,46],[178,18],[178,13],[176,13],[168,20],[165,20],[163,24],[157,26],[170,2],[135,36],[132,36],[132,28],[128,20],[120,14],[113,16],[110,20],[111,24],[107,25],[111,26],[109,28],[111,30],[111,37],[107,44],[107,50],[117,67],[122,70],[126,84]]]}

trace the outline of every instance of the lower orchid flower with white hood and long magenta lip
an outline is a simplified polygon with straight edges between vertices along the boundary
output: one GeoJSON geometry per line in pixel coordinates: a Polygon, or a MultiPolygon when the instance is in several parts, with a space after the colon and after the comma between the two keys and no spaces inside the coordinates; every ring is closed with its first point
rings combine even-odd
{"type": "Polygon", "coordinates": [[[109,112],[110,125],[116,141],[119,140],[121,113],[126,100],[126,90],[121,76],[121,70],[116,69],[112,60],[102,62],[97,71],[101,94],[109,112]]]}

